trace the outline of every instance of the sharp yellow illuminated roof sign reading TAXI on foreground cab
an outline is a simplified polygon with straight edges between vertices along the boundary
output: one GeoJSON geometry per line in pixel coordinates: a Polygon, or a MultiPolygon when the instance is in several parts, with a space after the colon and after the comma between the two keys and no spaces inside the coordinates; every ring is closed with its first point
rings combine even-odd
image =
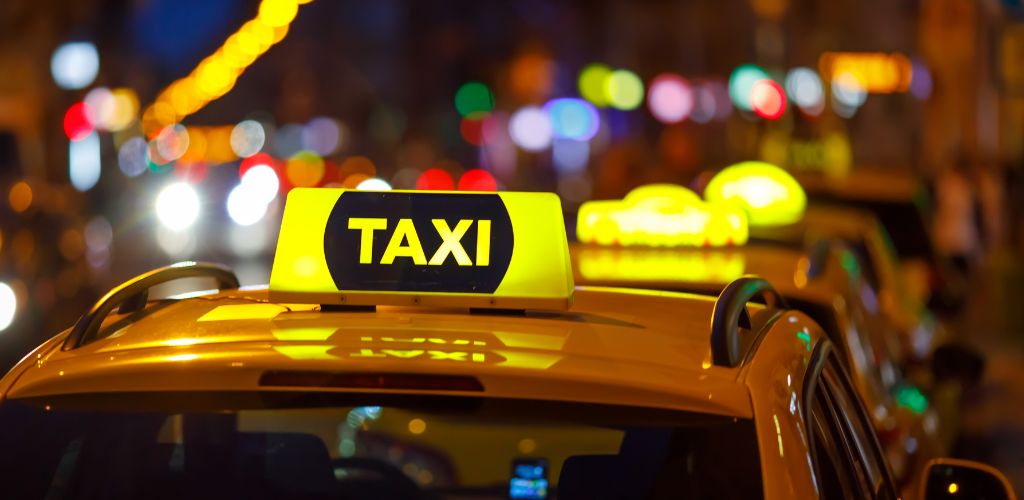
{"type": "Polygon", "coordinates": [[[270,274],[279,302],[565,308],[572,288],[547,193],[293,190],[270,274]]]}

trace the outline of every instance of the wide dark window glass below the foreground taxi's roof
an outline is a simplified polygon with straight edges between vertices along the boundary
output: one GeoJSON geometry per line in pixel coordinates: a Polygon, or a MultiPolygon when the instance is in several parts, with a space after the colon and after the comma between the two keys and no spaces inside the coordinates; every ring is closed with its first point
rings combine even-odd
{"type": "MultiPolygon", "coordinates": [[[[154,399],[164,399],[163,407],[174,400],[154,399]]],[[[7,401],[0,406],[4,495],[762,497],[748,419],[483,398],[317,397],[261,406],[179,412],[109,397],[72,407],[7,401]],[[112,410],[118,407],[128,409],[112,410]]]]}

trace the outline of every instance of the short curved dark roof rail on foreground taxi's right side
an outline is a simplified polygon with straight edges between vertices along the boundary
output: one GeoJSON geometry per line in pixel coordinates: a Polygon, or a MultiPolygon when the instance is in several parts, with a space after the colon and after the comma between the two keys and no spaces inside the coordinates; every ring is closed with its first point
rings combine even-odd
{"type": "Polygon", "coordinates": [[[768,307],[776,311],[788,308],[785,299],[767,280],[744,276],[728,284],[719,294],[711,316],[711,356],[715,365],[739,365],[759,331],[767,325],[763,323],[758,331],[740,338],[740,328],[754,329],[746,302],[757,296],[764,298],[768,307]]]}

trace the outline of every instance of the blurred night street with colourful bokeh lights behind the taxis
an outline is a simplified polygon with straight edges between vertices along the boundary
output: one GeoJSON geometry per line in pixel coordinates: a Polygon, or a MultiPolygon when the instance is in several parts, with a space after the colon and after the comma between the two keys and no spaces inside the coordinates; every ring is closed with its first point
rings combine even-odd
{"type": "Polygon", "coordinates": [[[920,210],[883,222],[963,272],[973,453],[1024,464],[1021,0],[6,0],[0,75],[3,369],[158,265],[265,283],[293,186],[571,215],[763,160],[920,210]]]}

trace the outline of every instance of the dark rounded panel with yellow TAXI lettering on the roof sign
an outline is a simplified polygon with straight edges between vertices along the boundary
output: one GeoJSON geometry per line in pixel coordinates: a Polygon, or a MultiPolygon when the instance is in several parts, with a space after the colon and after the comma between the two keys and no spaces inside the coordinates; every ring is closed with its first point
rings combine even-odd
{"type": "Polygon", "coordinates": [[[512,260],[501,197],[345,192],[324,256],[339,290],[494,293],[512,260]]]}

